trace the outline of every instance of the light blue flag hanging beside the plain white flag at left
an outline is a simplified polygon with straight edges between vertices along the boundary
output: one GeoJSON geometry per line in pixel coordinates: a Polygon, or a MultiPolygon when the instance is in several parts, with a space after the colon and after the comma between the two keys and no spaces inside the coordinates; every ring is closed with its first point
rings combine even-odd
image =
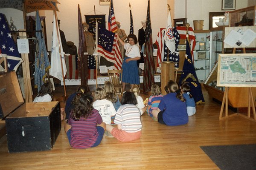
{"type": "Polygon", "coordinates": [[[42,25],[38,11],[36,11],[35,30],[35,37],[37,38],[38,43],[38,51],[36,51],[35,55],[35,88],[38,88],[39,92],[41,90],[41,86],[45,83],[47,70],[49,70],[51,66],[44,41],[44,34],[42,33],[42,25]]]}

